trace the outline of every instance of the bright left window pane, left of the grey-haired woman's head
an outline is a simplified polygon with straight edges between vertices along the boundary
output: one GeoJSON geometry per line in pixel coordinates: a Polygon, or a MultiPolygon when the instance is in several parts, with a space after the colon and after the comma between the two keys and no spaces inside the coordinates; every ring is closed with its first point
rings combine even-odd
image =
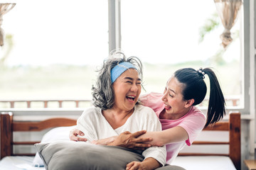
{"type": "Polygon", "coordinates": [[[108,56],[107,6],[107,1],[16,1],[3,16],[9,40],[0,58],[10,52],[1,63],[1,100],[90,99],[95,64],[108,56]]]}

